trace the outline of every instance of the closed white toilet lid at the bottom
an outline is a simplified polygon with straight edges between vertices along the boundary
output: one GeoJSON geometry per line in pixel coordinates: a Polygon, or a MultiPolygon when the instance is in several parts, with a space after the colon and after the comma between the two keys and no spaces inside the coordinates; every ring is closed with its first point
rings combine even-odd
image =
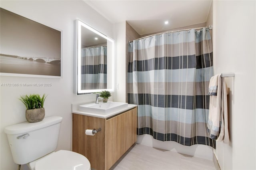
{"type": "Polygon", "coordinates": [[[76,152],[59,150],[38,160],[36,170],[90,170],[89,160],[76,152]]]}

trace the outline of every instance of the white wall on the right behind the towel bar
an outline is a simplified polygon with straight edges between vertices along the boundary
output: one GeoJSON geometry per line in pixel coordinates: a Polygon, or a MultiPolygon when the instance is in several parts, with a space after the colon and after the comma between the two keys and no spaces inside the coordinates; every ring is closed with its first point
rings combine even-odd
{"type": "Polygon", "coordinates": [[[230,88],[230,144],[217,142],[223,170],[256,169],[256,1],[213,2],[214,73],[230,88]]]}

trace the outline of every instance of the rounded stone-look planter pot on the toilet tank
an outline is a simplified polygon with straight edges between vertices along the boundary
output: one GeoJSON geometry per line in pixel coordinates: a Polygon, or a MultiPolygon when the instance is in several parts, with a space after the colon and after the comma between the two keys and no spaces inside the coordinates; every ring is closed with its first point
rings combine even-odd
{"type": "Polygon", "coordinates": [[[26,119],[28,122],[40,122],[44,119],[44,108],[26,110],[26,119]]]}

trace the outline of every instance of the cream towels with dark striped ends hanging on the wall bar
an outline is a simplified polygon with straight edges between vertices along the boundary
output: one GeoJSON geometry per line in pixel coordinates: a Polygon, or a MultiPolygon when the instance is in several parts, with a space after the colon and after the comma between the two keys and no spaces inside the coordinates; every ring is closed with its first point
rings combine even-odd
{"type": "Polygon", "coordinates": [[[226,144],[229,143],[227,94],[226,81],[222,79],[221,74],[211,77],[208,93],[210,105],[207,131],[210,138],[223,140],[226,144]]]}

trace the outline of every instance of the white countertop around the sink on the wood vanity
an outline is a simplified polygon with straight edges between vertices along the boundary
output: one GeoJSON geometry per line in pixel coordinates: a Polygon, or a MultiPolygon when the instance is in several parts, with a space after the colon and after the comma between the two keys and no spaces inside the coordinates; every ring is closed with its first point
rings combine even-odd
{"type": "Polygon", "coordinates": [[[107,113],[107,114],[103,115],[103,114],[79,111],[78,110],[79,105],[83,105],[83,104],[85,104],[85,103],[72,104],[72,113],[76,113],[76,114],[79,114],[79,115],[92,116],[92,117],[99,117],[99,118],[103,118],[103,119],[108,118],[108,117],[112,117],[114,115],[118,115],[118,113],[122,113],[124,111],[130,110],[130,109],[132,109],[132,108],[137,106],[137,105],[128,104],[127,108],[120,109],[119,111],[114,111],[112,113],[107,113]]]}

